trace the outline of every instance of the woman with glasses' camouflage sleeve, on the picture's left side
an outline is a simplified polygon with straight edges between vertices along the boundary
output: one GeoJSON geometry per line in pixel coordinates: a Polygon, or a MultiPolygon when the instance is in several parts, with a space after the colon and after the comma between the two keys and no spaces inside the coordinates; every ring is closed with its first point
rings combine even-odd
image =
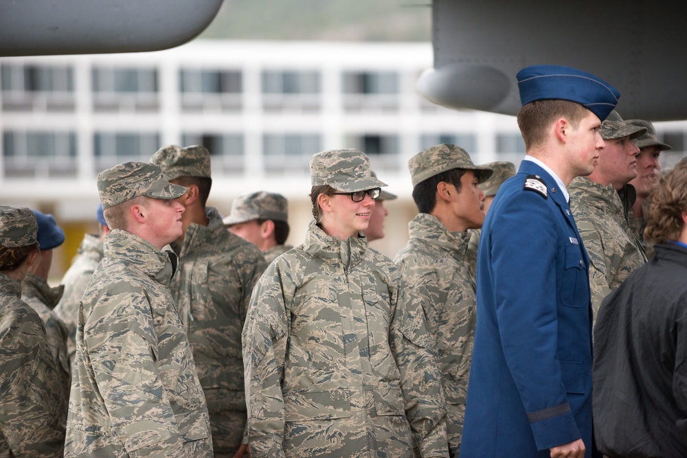
{"type": "Polygon", "coordinates": [[[253,458],[284,457],[284,358],[286,302],[292,293],[271,264],[256,284],[243,328],[248,443],[253,458]]]}

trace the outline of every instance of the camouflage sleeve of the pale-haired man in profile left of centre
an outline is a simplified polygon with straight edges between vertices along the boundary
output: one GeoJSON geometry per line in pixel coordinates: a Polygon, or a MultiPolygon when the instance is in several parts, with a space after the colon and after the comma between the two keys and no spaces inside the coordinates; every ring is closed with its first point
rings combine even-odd
{"type": "Polygon", "coordinates": [[[144,291],[125,282],[100,292],[84,345],[112,431],[135,456],[185,457],[183,439],[159,378],[153,312],[144,291]]]}

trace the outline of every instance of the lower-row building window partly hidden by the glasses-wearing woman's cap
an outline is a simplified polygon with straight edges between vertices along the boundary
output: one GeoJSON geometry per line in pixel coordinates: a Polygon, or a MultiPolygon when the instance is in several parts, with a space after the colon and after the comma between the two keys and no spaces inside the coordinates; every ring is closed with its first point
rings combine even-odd
{"type": "Polygon", "coordinates": [[[262,137],[262,154],[267,174],[307,174],[311,157],[320,150],[322,138],[315,133],[268,133],[262,137]]]}

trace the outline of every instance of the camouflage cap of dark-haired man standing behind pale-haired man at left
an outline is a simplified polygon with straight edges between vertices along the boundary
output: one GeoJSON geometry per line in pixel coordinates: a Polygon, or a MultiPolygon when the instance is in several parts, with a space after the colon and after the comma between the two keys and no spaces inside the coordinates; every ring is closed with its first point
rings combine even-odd
{"type": "Polygon", "coordinates": [[[150,162],[157,164],[165,174],[167,181],[179,176],[205,176],[210,178],[210,151],[204,146],[193,145],[181,148],[177,145],[166,145],[157,150],[150,162]]]}

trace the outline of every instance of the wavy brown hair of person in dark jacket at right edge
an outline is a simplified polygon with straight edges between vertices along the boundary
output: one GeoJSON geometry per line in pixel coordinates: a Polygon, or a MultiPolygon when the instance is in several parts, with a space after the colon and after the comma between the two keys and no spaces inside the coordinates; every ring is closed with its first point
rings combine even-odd
{"type": "Polygon", "coordinates": [[[651,204],[646,214],[644,238],[653,243],[679,240],[684,228],[682,214],[687,211],[687,159],[683,159],[672,172],[661,179],[651,193],[651,204]]]}

